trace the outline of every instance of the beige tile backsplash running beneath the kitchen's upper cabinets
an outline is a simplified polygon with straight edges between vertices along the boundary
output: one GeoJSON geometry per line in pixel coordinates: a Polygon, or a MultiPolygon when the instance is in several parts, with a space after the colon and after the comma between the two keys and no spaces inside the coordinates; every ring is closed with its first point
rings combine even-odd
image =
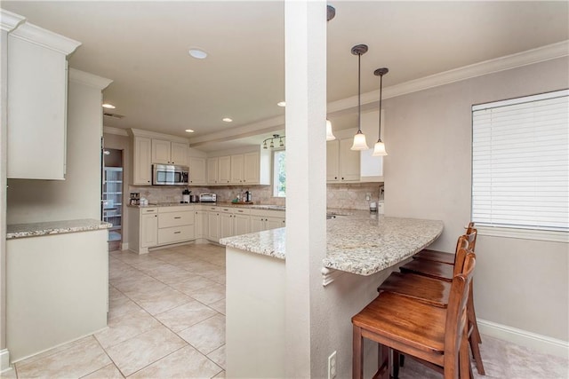
{"type": "MultiPolygon", "coordinates": [[[[365,200],[366,193],[371,194],[371,201],[378,201],[383,183],[333,184],[326,186],[326,205],[338,209],[369,209],[365,200]]],[[[129,186],[129,193],[138,192],[148,202],[180,202],[185,187],[129,186]]],[[[249,190],[255,204],[286,205],[282,197],[273,196],[272,186],[189,186],[192,194],[217,193],[218,201],[232,201],[238,193],[249,190]]],[[[381,196],[382,198],[382,196],[381,196]]]]}

